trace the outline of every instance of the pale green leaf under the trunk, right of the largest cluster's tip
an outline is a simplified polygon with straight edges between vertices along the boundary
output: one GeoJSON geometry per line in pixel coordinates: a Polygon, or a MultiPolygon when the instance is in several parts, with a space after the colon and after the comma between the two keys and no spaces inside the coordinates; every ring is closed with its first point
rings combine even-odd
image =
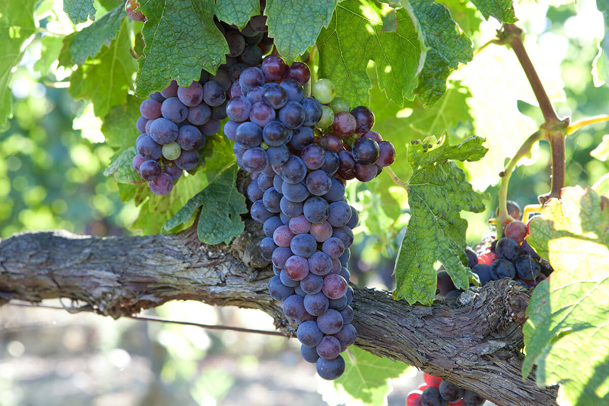
{"type": "Polygon", "coordinates": [[[319,385],[323,401],[329,405],[381,406],[387,405],[391,391],[389,379],[397,378],[409,366],[350,346],[343,352],[345,373],[338,379],[319,385]]]}

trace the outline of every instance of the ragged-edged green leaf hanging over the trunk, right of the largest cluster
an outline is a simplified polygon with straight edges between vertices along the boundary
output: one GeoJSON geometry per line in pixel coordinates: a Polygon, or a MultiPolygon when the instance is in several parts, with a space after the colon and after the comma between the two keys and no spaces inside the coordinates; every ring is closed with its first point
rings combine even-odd
{"type": "Polygon", "coordinates": [[[408,185],[412,217],[395,262],[395,299],[431,304],[435,296],[435,261],[442,262],[457,289],[469,287],[470,271],[462,263],[467,221],[462,210],[484,211],[484,198],[474,192],[463,170],[448,159],[476,161],[487,150],[483,138],[471,136],[449,145],[443,135],[437,145],[413,141],[407,158],[413,173],[408,185]]]}

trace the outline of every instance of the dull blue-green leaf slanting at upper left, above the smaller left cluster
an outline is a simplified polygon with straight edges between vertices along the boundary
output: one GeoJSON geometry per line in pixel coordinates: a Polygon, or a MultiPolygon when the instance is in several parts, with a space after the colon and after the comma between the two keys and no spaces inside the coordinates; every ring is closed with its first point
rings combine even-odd
{"type": "Polygon", "coordinates": [[[97,55],[103,45],[109,46],[124,18],[125,6],[121,4],[77,32],[69,47],[72,62],[81,65],[85,63],[86,58],[97,55]]]}

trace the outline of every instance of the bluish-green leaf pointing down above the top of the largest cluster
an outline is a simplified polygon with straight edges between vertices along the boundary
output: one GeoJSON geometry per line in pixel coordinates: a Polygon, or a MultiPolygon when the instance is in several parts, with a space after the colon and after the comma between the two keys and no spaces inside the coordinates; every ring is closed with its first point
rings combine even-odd
{"type": "Polygon", "coordinates": [[[328,27],[336,0],[267,0],[269,37],[274,38],[279,54],[288,63],[303,54],[323,27],[328,27]]]}

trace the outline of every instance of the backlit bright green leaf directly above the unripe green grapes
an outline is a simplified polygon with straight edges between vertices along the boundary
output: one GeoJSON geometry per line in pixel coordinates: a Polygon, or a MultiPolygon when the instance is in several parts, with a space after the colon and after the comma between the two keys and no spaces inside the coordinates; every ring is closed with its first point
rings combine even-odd
{"type": "Polygon", "coordinates": [[[382,32],[382,6],[376,1],[340,2],[328,28],[317,38],[319,77],[331,79],[338,96],[351,106],[367,106],[371,83],[366,67],[373,60],[385,96],[400,106],[412,100],[420,43],[403,9],[396,10],[396,25],[396,32],[382,32]]]}

